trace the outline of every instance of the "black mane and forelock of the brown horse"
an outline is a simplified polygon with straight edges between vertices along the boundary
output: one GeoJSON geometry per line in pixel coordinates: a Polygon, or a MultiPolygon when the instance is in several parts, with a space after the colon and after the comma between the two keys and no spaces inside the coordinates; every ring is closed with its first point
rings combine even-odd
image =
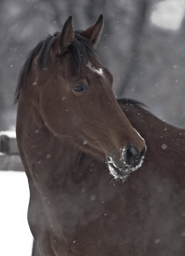
{"type": "MultiPolygon", "coordinates": [[[[68,50],[71,52],[70,68],[77,76],[80,73],[83,74],[83,66],[86,64],[87,59],[90,57],[97,58],[96,50],[93,48],[91,43],[85,37],[80,35],[82,32],[82,30],[75,31],[72,44],[68,48],[68,50]]],[[[15,104],[18,102],[20,91],[26,83],[27,76],[31,70],[32,62],[39,52],[38,68],[46,68],[49,64],[51,48],[58,34],[59,32],[55,32],[53,35],[48,35],[48,37],[41,40],[28,54],[25,64],[23,65],[19,74],[18,84],[15,91],[15,104]]]]}

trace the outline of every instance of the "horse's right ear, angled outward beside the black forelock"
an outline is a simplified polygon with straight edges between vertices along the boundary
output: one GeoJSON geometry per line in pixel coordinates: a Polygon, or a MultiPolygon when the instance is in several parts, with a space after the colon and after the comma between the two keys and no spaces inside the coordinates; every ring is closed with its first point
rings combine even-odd
{"type": "Polygon", "coordinates": [[[100,14],[96,23],[94,23],[93,26],[90,26],[89,28],[87,28],[80,35],[86,37],[92,43],[92,45],[95,46],[99,41],[99,37],[101,35],[102,29],[103,29],[103,15],[100,14]]]}

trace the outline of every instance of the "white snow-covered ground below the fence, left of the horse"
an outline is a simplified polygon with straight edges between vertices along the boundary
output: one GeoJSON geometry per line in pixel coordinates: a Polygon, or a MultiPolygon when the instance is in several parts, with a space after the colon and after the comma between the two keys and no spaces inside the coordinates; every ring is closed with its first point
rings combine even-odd
{"type": "Polygon", "coordinates": [[[27,222],[26,174],[0,171],[0,255],[31,256],[33,238],[27,222]]]}

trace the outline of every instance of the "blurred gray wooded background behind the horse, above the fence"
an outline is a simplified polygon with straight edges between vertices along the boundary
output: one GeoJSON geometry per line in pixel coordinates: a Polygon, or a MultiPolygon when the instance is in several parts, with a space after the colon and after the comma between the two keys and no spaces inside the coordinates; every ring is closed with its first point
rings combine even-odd
{"type": "Polygon", "coordinates": [[[144,102],[162,120],[185,127],[184,2],[0,1],[0,131],[15,130],[13,94],[28,52],[47,33],[60,31],[69,15],[76,29],[86,29],[101,13],[98,53],[114,76],[115,96],[144,102]]]}

